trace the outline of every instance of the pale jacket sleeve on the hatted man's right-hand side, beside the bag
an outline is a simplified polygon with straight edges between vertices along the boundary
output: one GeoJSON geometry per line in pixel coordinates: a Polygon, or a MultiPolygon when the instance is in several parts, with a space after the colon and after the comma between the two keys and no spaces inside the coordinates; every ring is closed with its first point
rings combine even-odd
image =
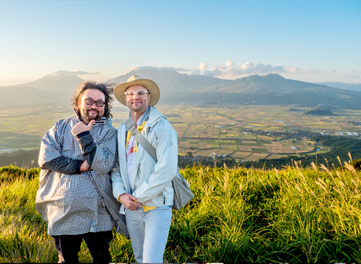
{"type": "Polygon", "coordinates": [[[153,127],[156,133],[156,152],[158,161],[154,166],[154,172],[133,192],[137,201],[143,203],[153,199],[165,189],[176,176],[178,165],[177,134],[167,119],[162,118],[153,127]]]}

